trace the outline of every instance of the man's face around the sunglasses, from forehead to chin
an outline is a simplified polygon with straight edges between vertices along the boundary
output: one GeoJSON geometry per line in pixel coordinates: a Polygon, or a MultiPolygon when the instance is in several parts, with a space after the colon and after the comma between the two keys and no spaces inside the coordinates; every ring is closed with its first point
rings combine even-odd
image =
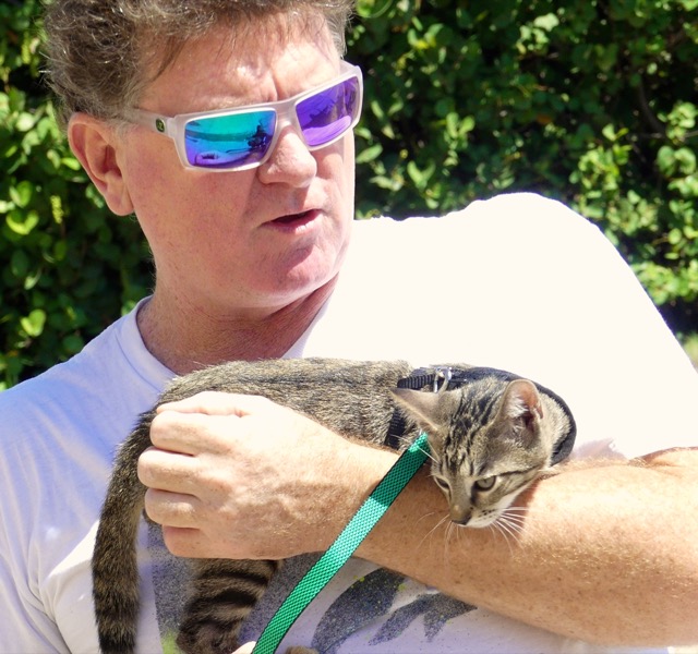
{"type": "MultiPolygon", "coordinates": [[[[264,27],[190,43],[140,107],[176,116],[266,102],[339,74],[326,29],[277,38],[275,23],[264,27]]],[[[287,125],[269,159],[241,172],[184,169],[173,142],[143,128],[128,132],[119,156],[156,294],[225,318],[280,308],[337,275],[353,215],[351,133],[311,153],[287,125]]]]}

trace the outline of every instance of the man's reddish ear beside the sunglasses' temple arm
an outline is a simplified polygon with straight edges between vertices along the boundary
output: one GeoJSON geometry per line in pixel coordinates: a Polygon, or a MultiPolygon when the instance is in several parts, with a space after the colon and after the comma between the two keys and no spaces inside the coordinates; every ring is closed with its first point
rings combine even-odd
{"type": "Polygon", "coordinates": [[[120,142],[115,129],[88,113],[74,113],[68,123],[68,141],[109,208],[118,216],[133,214],[117,156],[120,142]]]}

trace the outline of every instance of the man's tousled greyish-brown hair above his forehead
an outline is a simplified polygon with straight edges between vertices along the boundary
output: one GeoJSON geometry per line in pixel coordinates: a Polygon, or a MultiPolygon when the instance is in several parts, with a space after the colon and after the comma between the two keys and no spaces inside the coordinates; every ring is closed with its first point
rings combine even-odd
{"type": "Polygon", "coordinates": [[[324,19],[344,53],[352,10],[353,0],[51,0],[45,14],[47,78],[59,100],[59,121],[64,125],[75,111],[124,118],[184,44],[218,25],[230,27],[234,38],[275,15],[309,27],[324,19]]]}

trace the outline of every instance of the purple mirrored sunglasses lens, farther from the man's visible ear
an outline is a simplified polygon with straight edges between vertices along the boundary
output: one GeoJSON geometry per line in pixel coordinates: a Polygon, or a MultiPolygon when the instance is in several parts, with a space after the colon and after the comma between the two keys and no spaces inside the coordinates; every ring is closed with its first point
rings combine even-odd
{"type": "Polygon", "coordinates": [[[341,136],[358,116],[359,80],[345,80],[304,98],[296,111],[305,143],[311,147],[325,145],[341,136]]]}

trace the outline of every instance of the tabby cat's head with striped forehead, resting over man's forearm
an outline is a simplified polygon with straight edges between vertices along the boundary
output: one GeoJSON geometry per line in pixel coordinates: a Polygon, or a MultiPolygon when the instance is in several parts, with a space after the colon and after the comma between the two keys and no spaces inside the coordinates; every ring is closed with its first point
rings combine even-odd
{"type": "Polygon", "coordinates": [[[458,524],[492,524],[550,464],[541,398],[527,379],[484,379],[442,392],[396,389],[394,395],[426,432],[432,475],[458,524]]]}

